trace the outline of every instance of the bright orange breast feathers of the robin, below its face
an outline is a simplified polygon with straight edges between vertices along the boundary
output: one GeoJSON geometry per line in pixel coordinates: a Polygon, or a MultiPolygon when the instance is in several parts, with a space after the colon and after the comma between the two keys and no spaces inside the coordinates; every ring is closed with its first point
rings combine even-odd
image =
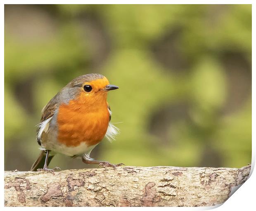
{"type": "Polygon", "coordinates": [[[68,105],[60,105],[57,123],[58,141],[66,146],[78,146],[82,142],[88,146],[99,143],[109,125],[107,94],[89,101],[81,94],[68,105]]]}

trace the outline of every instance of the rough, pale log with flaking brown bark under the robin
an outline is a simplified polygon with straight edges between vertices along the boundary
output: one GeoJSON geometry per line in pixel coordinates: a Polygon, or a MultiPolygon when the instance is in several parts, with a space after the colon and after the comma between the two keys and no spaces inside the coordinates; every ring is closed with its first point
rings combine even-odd
{"type": "Polygon", "coordinates": [[[171,166],[5,172],[5,206],[213,206],[247,180],[251,166],[171,166]]]}

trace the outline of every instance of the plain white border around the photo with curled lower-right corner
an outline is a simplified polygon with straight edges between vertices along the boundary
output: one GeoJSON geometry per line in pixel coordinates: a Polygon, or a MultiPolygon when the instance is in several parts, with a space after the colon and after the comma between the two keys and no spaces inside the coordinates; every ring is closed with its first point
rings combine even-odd
{"type": "MultiPolygon", "coordinates": [[[[4,29],[4,4],[206,4],[206,1],[204,0],[194,0],[194,1],[189,1],[189,0],[179,0],[179,1],[167,1],[167,0],[158,0],[158,1],[153,1],[153,0],[148,0],[148,1],[134,1],[134,0],[123,0],[123,1],[118,1],[118,0],[112,0],[112,1],[103,1],[103,0],[94,0],[94,1],[83,1],[83,0],[38,0],[38,1],[32,1],[32,0],[24,0],[24,1],[18,1],[18,0],[4,0],[3,3],[1,4],[1,25],[2,29],[4,29]]],[[[253,9],[252,9],[252,23],[255,23],[255,4],[252,0],[232,0],[232,1],[227,1],[227,0],[209,0],[207,1],[207,4],[252,4],[253,9]]],[[[254,24],[252,24],[252,46],[253,46],[253,51],[252,51],[252,82],[255,82],[255,42],[254,38],[256,36],[255,33],[255,27],[254,24]]],[[[1,38],[1,76],[0,76],[0,138],[2,140],[2,148],[1,148],[1,155],[2,155],[2,162],[0,162],[1,169],[4,169],[4,162],[3,162],[3,157],[4,157],[4,33],[3,31],[0,33],[0,38],[1,38]]],[[[255,104],[255,95],[256,95],[256,85],[252,83],[252,108],[256,107],[255,104]]],[[[254,129],[256,128],[255,124],[255,111],[252,110],[252,169],[254,168],[255,165],[255,132],[254,129]]],[[[3,202],[4,202],[4,174],[2,173],[2,191],[1,191],[1,202],[2,202],[2,207],[3,207],[3,202]]],[[[252,173],[251,171],[251,176],[250,178],[242,185],[237,192],[235,192],[222,206],[218,205],[215,207],[218,207],[218,210],[227,210],[227,209],[233,209],[233,210],[250,210],[251,208],[255,207],[255,195],[253,192],[253,188],[256,187],[256,173],[252,173]]],[[[35,208],[29,208],[29,207],[23,207],[23,208],[13,208],[13,207],[3,207],[4,209],[35,209],[35,208]]],[[[171,210],[180,210],[180,209],[189,209],[189,210],[208,210],[212,209],[213,207],[163,207],[161,209],[171,209],[171,210]]],[[[111,207],[97,207],[97,208],[90,208],[90,207],[74,207],[74,208],[67,208],[67,207],[37,207],[36,209],[47,209],[47,210],[52,210],[52,209],[90,209],[90,210],[95,210],[95,209],[113,209],[111,207]]],[[[115,209],[129,209],[129,208],[115,208],[115,209]]],[[[153,208],[153,207],[147,207],[147,208],[136,208],[133,207],[132,209],[159,209],[159,208],[153,208]]]]}

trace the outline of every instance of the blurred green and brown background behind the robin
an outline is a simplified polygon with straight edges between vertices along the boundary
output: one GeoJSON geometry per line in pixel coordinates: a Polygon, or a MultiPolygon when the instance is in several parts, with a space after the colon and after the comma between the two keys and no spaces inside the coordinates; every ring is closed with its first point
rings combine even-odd
{"type": "MultiPolygon", "coordinates": [[[[122,122],[91,157],[251,162],[251,5],[5,5],[5,170],[30,169],[41,109],[87,73],[120,87],[108,101],[122,122]]],[[[64,155],[54,166],[92,167],[64,155]]]]}

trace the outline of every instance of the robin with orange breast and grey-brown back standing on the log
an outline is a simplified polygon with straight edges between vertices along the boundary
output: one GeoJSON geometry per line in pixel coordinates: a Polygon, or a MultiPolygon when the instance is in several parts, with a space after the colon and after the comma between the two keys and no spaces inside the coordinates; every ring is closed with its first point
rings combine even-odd
{"type": "Polygon", "coordinates": [[[42,110],[36,136],[41,152],[31,171],[54,173],[59,167],[49,169],[48,165],[56,153],[82,157],[85,164],[114,168],[122,165],[90,158],[90,152],[104,136],[112,141],[119,133],[110,123],[107,103],[108,91],[118,88],[103,75],[91,73],[73,79],[60,90],[42,110]]]}

